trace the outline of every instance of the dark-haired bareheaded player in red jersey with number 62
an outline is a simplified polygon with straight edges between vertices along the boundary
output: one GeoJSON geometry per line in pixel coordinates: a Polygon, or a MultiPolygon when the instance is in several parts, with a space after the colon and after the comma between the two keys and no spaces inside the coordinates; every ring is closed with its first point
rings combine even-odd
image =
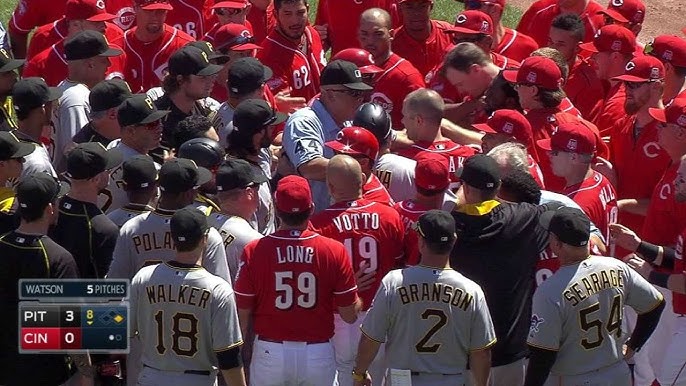
{"type": "Polygon", "coordinates": [[[257,53],[257,58],[274,71],[267,85],[274,94],[290,89],[290,96],[310,100],[319,92],[326,58],[319,33],[308,25],[307,1],[275,0],[274,9],[276,27],[257,53]]]}

